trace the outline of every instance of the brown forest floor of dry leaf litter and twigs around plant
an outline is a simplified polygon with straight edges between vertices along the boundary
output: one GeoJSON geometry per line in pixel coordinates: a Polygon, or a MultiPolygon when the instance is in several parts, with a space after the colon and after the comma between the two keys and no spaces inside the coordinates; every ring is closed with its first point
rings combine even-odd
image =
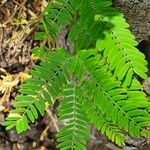
{"type": "MultiPolygon", "coordinates": [[[[40,117],[30,129],[18,135],[2,126],[17,95],[19,85],[30,78],[28,71],[38,63],[31,49],[40,45],[34,40],[46,0],[0,0],[0,150],[55,150],[55,107],[40,117]],[[51,112],[51,113],[49,113],[51,112]]],[[[149,150],[146,139],[130,139],[124,149],[149,150]]],[[[91,128],[88,150],[121,150],[91,128]]]]}

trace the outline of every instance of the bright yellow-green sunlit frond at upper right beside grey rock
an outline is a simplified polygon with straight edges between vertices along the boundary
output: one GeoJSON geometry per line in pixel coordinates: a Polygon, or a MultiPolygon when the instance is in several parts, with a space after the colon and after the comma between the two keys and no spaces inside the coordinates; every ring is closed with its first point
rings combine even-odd
{"type": "Polygon", "coordinates": [[[133,74],[146,79],[147,62],[145,56],[135,48],[138,43],[128,30],[129,25],[123,15],[119,12],[118,15],[113,15],[116,12],[110,7],[96,15],[96,20],[107,28],[103,30],[104,35],[100,36],[96,47],[106,58],[114,75],[129,86],[133,74]]]}

